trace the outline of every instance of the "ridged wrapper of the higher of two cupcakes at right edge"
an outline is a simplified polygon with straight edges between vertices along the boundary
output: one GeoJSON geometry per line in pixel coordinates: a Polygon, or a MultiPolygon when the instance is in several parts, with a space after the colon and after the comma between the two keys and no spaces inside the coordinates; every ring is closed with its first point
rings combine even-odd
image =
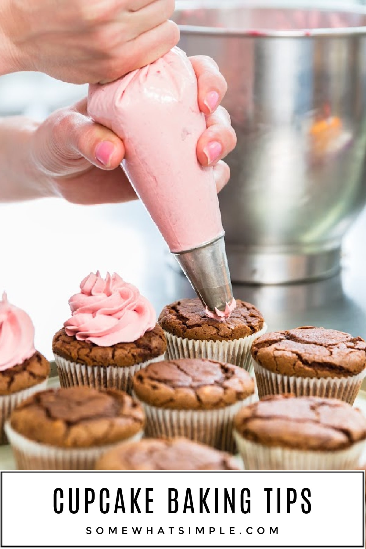
{"type": "Polygon", "coordinates": [[[301,378],[271,372],[255,360],[252,363],[260,399],[267,395],[292,393],[296,396],[334,398],[353,404],[366,374],[365,369],[357,376],[344,378],[301,378]]]}

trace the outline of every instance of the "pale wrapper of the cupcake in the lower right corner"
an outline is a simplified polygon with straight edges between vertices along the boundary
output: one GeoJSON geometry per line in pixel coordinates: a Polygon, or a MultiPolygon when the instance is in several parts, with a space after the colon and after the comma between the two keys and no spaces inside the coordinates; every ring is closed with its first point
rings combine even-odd
{"type": "Polygon", "coordinates": [[[344,470],[357,469],[365,441],[346,450],[316,452],[268,447],[244,439],[236,430],[234,438],[246,470],[344,470]]]}

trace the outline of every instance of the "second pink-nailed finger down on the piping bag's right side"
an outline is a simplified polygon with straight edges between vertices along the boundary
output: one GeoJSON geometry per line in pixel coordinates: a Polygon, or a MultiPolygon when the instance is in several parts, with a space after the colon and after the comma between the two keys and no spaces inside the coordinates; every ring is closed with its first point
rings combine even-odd
{"type": "Polygon", "coordinates": [[[207,116],[207,130],[197,144],[197,156],[202,166],[212,166],[227,156],[237,144],[237,136],[231,126],[228,111],[219,107],[207,116]]]}

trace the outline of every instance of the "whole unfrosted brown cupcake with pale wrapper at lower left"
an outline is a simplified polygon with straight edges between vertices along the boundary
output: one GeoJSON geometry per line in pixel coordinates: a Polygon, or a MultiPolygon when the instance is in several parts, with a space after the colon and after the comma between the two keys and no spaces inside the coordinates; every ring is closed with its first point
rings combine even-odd
{"type": "Polygon", "coordinates": [[[5,424],[18,469],[93,469],[120,442],[143,435],[144,412],[123,391],[49,389],[13,410],[5,424]]]}

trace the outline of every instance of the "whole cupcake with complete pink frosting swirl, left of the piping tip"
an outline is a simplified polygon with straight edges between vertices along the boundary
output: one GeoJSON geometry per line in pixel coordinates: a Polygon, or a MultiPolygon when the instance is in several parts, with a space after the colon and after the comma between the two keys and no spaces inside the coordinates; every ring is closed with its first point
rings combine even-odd
{"type": "Polygon", "coordinates": [[[69,300],[72,316],[53,338],[63,387],[89,385],[131,392],[132,377],[163,360],[164,332],[151,303],[114,273],[91,273],[69,300]]]}

